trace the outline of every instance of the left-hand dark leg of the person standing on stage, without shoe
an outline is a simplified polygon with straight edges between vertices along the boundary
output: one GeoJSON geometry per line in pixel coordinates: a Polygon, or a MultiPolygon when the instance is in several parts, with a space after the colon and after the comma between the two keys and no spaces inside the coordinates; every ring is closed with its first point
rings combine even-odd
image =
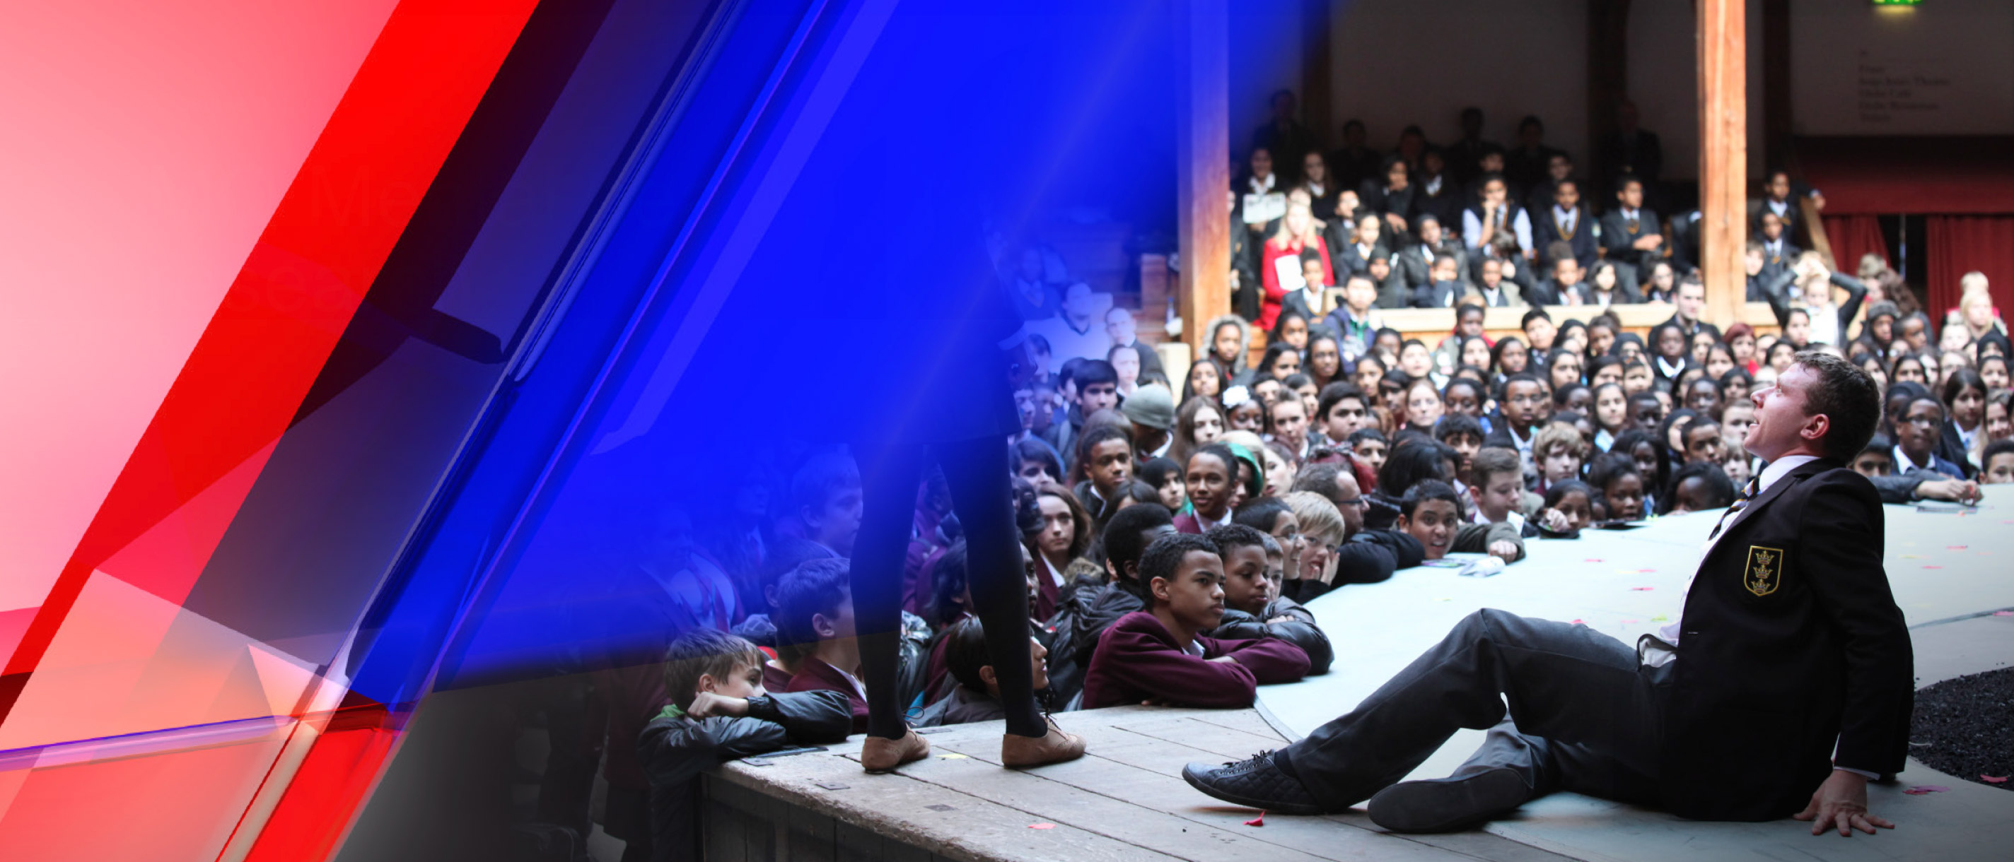
{"type": "Polygon", "coordinates": [[[902,558],[916,516],[922,447],[854,447],[860,459],[860,536],[854,540],[854,628],[860,677],[868,691],[868,737],[904,739],[900,703],[902,558]]]}

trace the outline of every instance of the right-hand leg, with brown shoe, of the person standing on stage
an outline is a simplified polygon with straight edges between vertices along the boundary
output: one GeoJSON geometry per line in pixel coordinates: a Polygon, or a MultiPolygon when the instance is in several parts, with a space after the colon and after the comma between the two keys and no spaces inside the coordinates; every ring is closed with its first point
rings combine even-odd
{"type": "Polygon", "coordinates": [[[1027,570],[1013,518],[1007,443],[999,437],[939,445],[937,461],[951,485],[951,508],[965,528],[965,584],[987,632],[987,655],[1007,707],[1001,765],[1027,767],[1084,755],[1084,739],[1063,733],[1035,709],[1029,655],[1027,570]]]}

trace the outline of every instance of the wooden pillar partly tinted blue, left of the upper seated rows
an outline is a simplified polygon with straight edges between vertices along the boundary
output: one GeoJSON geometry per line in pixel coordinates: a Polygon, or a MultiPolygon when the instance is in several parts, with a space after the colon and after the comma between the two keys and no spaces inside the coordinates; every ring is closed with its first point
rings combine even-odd
{"type": "Polygon", "coordinates": [[[1231,312],[1231,12],[1184,0],[1176,95],[1174,193],[1182,250],[1182,340],[1200,356],[1210,318],[1231,312]]]}

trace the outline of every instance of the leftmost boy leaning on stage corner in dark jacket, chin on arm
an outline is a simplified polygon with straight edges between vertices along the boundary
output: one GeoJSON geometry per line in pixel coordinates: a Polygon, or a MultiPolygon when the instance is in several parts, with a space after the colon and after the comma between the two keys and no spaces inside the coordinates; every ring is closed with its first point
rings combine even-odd
{"type": "Polygon", "coordinates": [[[701,769],[794,745],[846,741],[852,711],[838,691],[765,693],[755,644],[695,628],[665,655],[671,705],[644,725],[636,757],[651,779],[651,858],[699,858],[701,769]]]}

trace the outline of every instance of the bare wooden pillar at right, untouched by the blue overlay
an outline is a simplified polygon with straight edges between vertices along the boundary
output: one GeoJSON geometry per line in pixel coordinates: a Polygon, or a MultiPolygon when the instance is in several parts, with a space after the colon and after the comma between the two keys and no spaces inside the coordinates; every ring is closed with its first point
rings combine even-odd
{"type": "Polygon", "coordinates": [[[1706,320],[1728,326],[1746,300],[1748,34],[1742,0],[1698,0],[1700,270],[1706,320]]]}

